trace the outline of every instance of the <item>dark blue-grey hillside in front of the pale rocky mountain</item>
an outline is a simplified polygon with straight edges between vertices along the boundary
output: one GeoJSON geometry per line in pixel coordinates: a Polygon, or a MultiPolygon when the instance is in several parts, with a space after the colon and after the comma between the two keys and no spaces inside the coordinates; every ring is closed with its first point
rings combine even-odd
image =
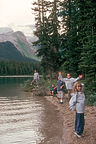
{"type": "Polygon", "coordinates": [[[35,61],[22,55],[20,51],[9,41],[0,42],[0,59],[16,61],[35,61]]]}

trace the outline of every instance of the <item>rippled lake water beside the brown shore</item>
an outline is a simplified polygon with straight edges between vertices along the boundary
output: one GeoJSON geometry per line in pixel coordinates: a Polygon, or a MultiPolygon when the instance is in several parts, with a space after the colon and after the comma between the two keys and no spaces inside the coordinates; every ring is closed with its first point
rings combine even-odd
{"type": "Polygon", "coordinates": [[[0,144],[63,144],[57,107],[24,92],[24,81],[0,78],[0,144]]]}

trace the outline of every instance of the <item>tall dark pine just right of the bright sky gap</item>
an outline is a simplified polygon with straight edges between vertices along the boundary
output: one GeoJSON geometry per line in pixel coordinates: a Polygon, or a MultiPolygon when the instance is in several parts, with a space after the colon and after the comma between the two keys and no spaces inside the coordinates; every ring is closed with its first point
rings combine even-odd
{"type": "Polygon", "coordinates": [[[61,38],[63,40],[64,49],[64,67],[67,72],[76,72],[79,63],[79,49],[78,47],[78,23],[76,20],[77,8],[75,7],[74,1],[65,0],[61,3],[62,11],[60,16],[62,16],[63,33],[61,38]]]}

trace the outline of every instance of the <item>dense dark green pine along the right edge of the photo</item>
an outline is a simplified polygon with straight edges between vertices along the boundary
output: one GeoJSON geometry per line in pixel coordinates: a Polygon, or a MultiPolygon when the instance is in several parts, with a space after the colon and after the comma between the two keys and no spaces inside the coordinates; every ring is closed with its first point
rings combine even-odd
{"type": "Polygon", "coordinates": [[[79,69],[82,69],[89,87],[96,90],[96,2],[82,0],[77,4],[79,7],[78,33],[81,49],[79,69]]]}

